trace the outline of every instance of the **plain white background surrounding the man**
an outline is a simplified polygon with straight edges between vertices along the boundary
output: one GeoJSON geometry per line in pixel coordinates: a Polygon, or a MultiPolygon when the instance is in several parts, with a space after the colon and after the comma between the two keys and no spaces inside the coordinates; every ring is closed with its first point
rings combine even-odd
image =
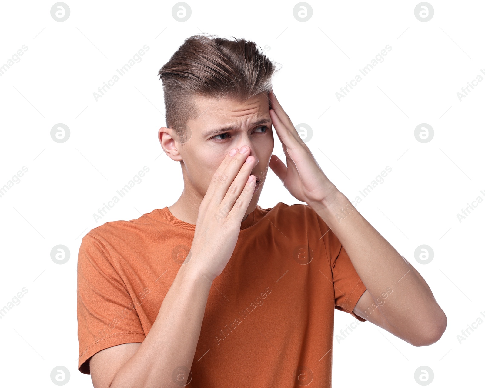
{"type": "MultiPolygon", "coordinates": [[[[181,194],[179,164],[157,140],[165,125],[157,72],[200,32],[270,48],[266,55],[282,66],[275,95],[295,125],[312,128],[310,150],[349,199],[392,168],[356,207],[424,277],[448,326],[435,344],[413,347],[359,324],[340,343],[334,338],[333,386],[418,387],[414,372],[423,365],[435,374],[432,387],[483,385],[485,324],[461,343],[457,335],[485,311],[485,203],[462,222],[456,215],[477,196],[485,199],[485,82],[457,97],[485,71],[482,1],[431,1],[427,22],[414,15],[419,1],[310,1],[306,22],[293,16],[297,1],[188,0],[185,22],[172,16],[175,1],[66,3],[63,22],[50,15],[54,2],[1,8],[0,65],[28,47],[0,77],[0,186],[28,168],[0,197],[0,307],[28,289],[0,320],[2,386],[54,386],[50,372],[58,365],[70,371],[67,386],[91,386],[77,370],[81,238],[104,222],[170,206],[181,194]],[[144,45],[142,61],[96,101],[97,88],[144,45]],[[386,45],[392,50],[384,62],[338,101],[340,87],[386,45]],[[50,137],[57,123],[70,129],[62,144],[50,137]],[[434,129],[428,143],[414,137],[421,123],[434,129]],[[150,169],[143,181],[95,222],[93,213],[143,166],[150,169]],[[57,244],[71,255],[62,265],[50,258],[57,244]],[[429,264],[414,257],[421,244],[434,250],[429,264]]],[[[276,136],[273,153],[282,155],[276,136]]],[[[299,203],[270,171],[259,205],[277,202],[299,203]]],[[[335,334],[352,322],[336,311],[335,334]]]]}

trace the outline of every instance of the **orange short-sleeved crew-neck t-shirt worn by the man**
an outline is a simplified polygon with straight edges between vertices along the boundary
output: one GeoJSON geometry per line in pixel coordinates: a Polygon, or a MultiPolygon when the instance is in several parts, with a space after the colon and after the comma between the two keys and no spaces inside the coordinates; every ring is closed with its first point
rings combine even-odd
{"type": "MultiPolygon", "coordinates": [[[[102,349],[143,342],[194,230],[165,207],[83,237],[80,372],[90,373],[89,358],[102,349]]],[[[365,322],[352,312],[365,290],[333,231],[308,205],[258,205],[212,283],[187,387],[330,387],[334,311],[365,322]]]]}

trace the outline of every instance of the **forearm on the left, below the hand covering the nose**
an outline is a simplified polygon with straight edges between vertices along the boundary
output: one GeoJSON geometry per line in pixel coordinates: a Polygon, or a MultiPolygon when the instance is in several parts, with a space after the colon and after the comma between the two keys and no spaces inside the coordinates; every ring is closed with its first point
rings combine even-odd
{"type": "Polygon", "coordinates": [[[178,387],[172,372],[177,367],[191,369],[212,284],[191,262],[180,267],[145,340],[110,388],[178,387]]]}

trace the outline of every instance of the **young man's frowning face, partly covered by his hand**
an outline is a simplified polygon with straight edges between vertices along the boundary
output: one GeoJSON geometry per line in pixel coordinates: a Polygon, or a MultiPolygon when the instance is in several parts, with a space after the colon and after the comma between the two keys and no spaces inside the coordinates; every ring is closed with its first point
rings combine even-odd
{"type": "MultiPolygon", "coordinates": [[[[274,139],[266,93],[244,101],[196,97],[200,116],[187,122],[189,140],[175,143],[184,169],[184,190],[204,198],[212,175],[232,148],[247,146],[256,159],[251,171],[260,178],[246,214],[254,210],[269,169],[274,139]],[[188,180],[188,181],[187,181],[188,180]]],[[[173,133],[175,136],[175,133],[173,133]]]]}

